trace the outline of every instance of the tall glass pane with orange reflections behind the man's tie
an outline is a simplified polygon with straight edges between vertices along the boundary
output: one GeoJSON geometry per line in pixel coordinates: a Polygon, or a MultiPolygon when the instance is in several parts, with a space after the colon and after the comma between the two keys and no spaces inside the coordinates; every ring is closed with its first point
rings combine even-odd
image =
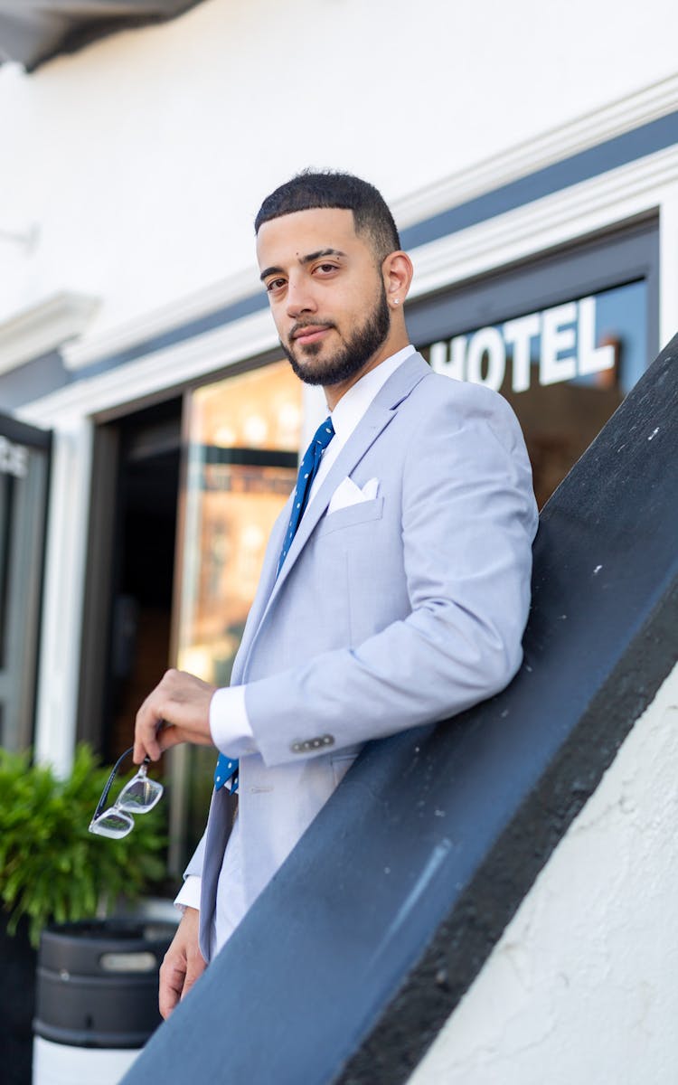
{"type": "MultiPolygon", "coordinates": [[[[216,686],[230,681],[266,544],[294,488],[302,421],[302,385],[286,361],[188,396],[172,655],[216,686]]],[[[172,755],[179,869],[204,828],[216,755],[197,746],[172,755]]]]}

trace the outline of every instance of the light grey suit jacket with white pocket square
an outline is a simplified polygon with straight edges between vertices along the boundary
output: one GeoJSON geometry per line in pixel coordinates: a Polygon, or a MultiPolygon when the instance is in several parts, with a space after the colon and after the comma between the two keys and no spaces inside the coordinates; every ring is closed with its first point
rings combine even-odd
{"type": "MultiPolygon", "coordinates": [[[[241,758],[247,907],[368,739],[435,720],[513,677],[529,605],[537,510],[503,398],[412,355],[388,378],[306,510],[281,573],[276,522],[232,685],[259,753],[241,758]],[[346,477],[379,495],[328,514],[346,477]]],[[[202,875],[207,956],[228,838],[215,792],[187,875],[202,875]]]]}

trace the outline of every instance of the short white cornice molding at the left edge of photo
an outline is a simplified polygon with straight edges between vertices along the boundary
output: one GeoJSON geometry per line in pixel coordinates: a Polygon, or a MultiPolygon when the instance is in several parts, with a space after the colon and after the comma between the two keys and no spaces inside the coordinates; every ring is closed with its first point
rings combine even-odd
{"type": "Polygon", "coordinates": [[[55,350],[79,335],[99,307],[99,298],[60,291],[0,323],[0,373],[55,350]]]}

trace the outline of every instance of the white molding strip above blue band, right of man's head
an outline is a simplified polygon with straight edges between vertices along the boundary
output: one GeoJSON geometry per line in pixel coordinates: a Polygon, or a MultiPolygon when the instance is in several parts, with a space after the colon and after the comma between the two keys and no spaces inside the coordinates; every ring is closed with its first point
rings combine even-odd
{"type": "Polygon", "coordinates": [[[404,229],[678,110],[678,76],[552,128],[392,202],[404,229]]]}

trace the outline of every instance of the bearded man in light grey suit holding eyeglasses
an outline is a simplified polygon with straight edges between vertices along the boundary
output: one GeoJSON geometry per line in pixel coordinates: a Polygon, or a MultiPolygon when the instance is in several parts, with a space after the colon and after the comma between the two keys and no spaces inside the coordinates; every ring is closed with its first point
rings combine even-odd
{"type": "Polygon", "coordinates": [[[410,346],[412,266],[380,193],[302,174],[255,228],[282,347],[331,414],[271,533],[231,688],[170,671],[137,716],[137,762],[177,742],[223,755],[177,898],[164,1016],[363,742],[446,719],[512,678],[529,602],[537,515],[517,422],[500,396],[433,373],[410,346]]]}

